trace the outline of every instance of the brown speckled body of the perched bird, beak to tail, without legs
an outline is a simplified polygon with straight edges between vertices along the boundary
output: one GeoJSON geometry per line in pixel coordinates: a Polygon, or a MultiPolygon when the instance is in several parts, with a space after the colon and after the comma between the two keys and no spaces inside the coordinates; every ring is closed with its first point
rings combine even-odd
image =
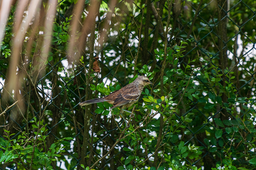
{"type": "Polygon", "coordinates": [[[110,109],[115,107],[120,107],[121,109],[130,107],[139,100],[144,86],[150,84],[153,85],[153,83],[150,82],[146,76],[139,76],[131,84],[126,85],[123,88],[116,90],[115,92],[112,92],[106,97],[87,100],[79,103],[79,105],[85,106],[92,103],[107,101],[113,105],[110,109]]]}

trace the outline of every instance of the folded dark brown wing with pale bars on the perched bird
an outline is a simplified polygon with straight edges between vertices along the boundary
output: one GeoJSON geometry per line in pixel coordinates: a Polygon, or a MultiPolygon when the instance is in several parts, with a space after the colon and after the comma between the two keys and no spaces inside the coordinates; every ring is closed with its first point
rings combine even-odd
{"type": "Polygon", "coordinates": [[[111,108],[126,105],[131,101],[136,101],[137,99],[139,99],[139,97],[140,97],[140,93],[137,88],[130,87],[130,88],[124,89],[120,94],[116,96],[113,107],[111,108]]]}

